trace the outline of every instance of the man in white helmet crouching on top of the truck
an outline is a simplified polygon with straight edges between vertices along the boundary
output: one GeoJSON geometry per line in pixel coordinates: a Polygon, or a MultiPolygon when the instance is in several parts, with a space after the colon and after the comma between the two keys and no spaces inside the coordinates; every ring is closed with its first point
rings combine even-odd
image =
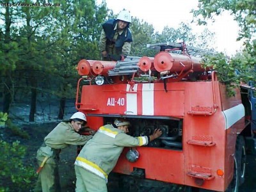
{"type": "Polygon", "coordinates": [[[127,10],[120,12],[116,19],[109,19],[102,24],[99,42],[102,60],[120,60],[120,55],[130,54],[132,33],[129,24],[131,15],[127,10]],[[109,55],[113,58],[109,58],[109,55]]]}

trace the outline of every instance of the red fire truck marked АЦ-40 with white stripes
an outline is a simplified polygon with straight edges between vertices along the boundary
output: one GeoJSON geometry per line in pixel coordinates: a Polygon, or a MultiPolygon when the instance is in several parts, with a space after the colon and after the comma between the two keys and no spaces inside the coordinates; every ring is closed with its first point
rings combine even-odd
{"type": "Polygon", "coordinates": [[[246,138],[256,128],[253,84],[228,97],[218,73],[202,67],[202,49],[170,42],[148,47],[159,47],[155,57],[77,65],[76,108],[90,127],[122,117],[132,123],[132,136],[163,131],[147,147],[125,148],[113,172],[131,191],[238,191],[246,138]]]}

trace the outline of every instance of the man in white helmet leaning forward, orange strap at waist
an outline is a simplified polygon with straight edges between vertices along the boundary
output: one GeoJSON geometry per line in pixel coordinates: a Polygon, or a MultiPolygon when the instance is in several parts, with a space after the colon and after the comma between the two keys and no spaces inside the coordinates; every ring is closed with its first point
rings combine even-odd
{"type": "MultiPolygon", "coordinates": [[[[84,113],[76,112],[69,120],[60,122],[45,138],[44,143],[38,149],[36,159],[39,168],[38,180],[34,191],[60,191],[60,179],[58,173],[59,154],[62,148],[69,145],[84,145],[92,138],[92,135],[81,135],[79,130],[86,124],[84,113]]],[[[95,132],[89,128],[90,134],[95,132]]]]}

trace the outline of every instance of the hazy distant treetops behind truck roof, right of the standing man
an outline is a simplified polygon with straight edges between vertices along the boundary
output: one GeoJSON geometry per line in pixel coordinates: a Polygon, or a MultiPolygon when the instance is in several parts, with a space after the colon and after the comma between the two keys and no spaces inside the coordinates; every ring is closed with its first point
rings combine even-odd
{"type": "Polygon", "coordinates": [[[132,56],[154,57],[159,49],[148,49],[147,44],[159,44],[165,42],[186,42],[187,45],[201,49],[214,49],[214,33],[205,29],[202,33],[194,34],[191,26],[187,23],[180,23],[179,28],[164,27],[162,33],[154,32],[152,25],[143,22],[138,18],[132,18],[130,26],[132,31],[132,56]]]}

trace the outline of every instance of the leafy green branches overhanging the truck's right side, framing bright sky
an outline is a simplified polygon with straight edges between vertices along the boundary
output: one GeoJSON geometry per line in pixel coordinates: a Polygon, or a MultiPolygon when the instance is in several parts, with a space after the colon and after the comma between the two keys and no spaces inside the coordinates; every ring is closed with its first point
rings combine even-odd
{"type": "Polygon", "coordinates": [[[228,62],[224,55],[218,55],[216,58],[208,58],[205,63],[214,65],[218,77],[228,84],[228,93],[232,95],[230,90],[234,84],[256,79],[256,3],[254,0],[199,0],[198,10],[192,12],[198,24],[207,24],[206,19],[214,20],[215,15],[220,15],[225,10],[230,12],[239,24],[240,33],[237,40],[244,40],[245,49],[228,62]]]}

